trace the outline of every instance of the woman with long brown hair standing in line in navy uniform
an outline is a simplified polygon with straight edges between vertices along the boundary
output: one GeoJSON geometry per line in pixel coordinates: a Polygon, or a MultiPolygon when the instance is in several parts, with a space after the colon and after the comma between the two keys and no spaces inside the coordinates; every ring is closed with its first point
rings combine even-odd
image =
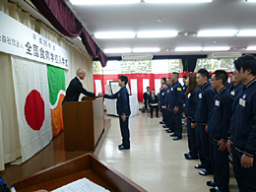
{"type": "Polygon", "coordinates": [[[197,96],[198,96],[199,89],[197,88],[196,75],[195,74],[188,75],[186,84],[188,86],[188,89],[185,93],[185,103],[186,103],[185,115],[186,115],[186,121],[187,121],[189,153],[184,154],[184,156],[185,156],[185,159],[187,160],[197,160],[198,151],[196,146],[196,125],[195,125],[194,116],[196,113],[197,96]]]}

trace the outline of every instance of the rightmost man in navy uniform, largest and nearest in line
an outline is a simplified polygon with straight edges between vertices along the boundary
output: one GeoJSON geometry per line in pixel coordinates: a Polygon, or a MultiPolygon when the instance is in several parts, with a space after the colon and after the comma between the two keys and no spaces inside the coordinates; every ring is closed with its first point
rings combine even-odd
{"type": "Polygon", "coordinates": [[[234,67],[236,81],[244,86],[232,105],[227,148],[239,191],[256,191],[256,58],[241,56],[234,67]]]}

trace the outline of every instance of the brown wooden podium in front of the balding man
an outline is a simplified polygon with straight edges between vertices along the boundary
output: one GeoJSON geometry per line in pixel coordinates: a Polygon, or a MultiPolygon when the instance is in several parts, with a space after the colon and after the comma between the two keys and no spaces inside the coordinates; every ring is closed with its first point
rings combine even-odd
{"type": "Polygon", "coordinates": [[[66,101],[62,110],[65,151],[95,151],[104,131],[103,98],[66,101]]]}

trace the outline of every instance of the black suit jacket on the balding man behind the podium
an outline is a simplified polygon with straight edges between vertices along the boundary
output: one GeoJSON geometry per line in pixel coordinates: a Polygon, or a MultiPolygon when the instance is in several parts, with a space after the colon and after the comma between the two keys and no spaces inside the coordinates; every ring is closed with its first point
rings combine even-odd
{"type": "Polygon", "coordinates": [[[96,97],[96,94],[88,92],[83,88],[82,83],[79,81],[77,77],[75,77],[69,84],[69,87],[66,92],[66,96],[64,97],[65,101],[78,101],[80,94],[84,94],[85,96],[96,97]]]}

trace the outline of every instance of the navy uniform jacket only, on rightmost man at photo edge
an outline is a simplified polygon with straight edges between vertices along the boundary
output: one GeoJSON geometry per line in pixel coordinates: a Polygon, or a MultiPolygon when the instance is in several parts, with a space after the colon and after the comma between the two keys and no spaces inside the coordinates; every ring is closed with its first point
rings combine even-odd
{"type": "Polygon", "coordinates": [[[235,149],[250,157],[256,155],[256,79],[235,98],[230,139],[235,149]]]}

